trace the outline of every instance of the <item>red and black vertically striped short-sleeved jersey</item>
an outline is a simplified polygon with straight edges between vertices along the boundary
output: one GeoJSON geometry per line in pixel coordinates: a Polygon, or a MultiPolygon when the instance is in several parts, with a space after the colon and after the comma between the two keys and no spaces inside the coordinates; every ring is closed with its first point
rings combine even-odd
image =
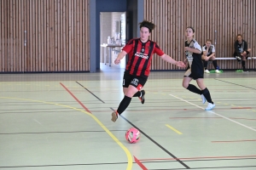
{"type": "Polygon", "coordinates": [[[128,54],[128,63],[125,71],[134,76],[148,77],[153,54],[165,54],[156,42],[148,40],[142,42],[140,38],[131,39],[123,48],[128,54]]]}

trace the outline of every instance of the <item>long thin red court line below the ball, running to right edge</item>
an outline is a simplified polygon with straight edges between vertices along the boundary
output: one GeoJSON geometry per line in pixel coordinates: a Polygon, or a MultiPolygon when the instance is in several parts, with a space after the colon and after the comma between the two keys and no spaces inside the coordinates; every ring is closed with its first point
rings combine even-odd
{"type": "Polygon", "coordinates": [[[206,157],[184,157],[184,158],[156,158],[156,159],[141,159],[139,161],[164,161],[164,160],[201,160],[201,159],[222,159],[222,158],[245,158],[245,157],[256,157],[256,156],[206,156],[206,157]]]}

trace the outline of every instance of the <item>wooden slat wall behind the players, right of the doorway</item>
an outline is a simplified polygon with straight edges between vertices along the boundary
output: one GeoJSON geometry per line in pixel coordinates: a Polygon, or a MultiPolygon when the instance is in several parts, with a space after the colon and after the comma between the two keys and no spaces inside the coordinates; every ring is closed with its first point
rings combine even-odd
{"type": "MultiPolygon", "coordinates": [[[[154,22],[151,39],[174,59],[184,59],[184,31],[195,28],[195,39],[201,44],[216,38],[216,57],[233,57],[236,35],[252,48],[256,57],[256,1],[254,0],[145,0],[144,18],[154,22]],[[216,31],[216,37],[215,37],[216,31]]],[[[218,60],[220,69],[240,69],[236,60],[218,60]]],[[[178,70],[155,56],[152,70],[178,70]]],[[[210,66],[210,68],[212,65],[210,66]]],[[[247,61],[247,68],[255,68],[255,60],[247,61]]]]}

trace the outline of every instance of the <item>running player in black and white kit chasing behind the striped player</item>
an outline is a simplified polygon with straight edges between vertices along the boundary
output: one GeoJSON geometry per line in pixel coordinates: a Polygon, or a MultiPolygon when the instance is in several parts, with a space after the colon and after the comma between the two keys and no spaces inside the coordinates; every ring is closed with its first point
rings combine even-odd
{"type": "Polygon", "coordinates": [[[188,62],[189,65],[183,77],[183,88],[186,88],[195,94],[200,94],[203,104],[205,104],[207,99],[208,105],[205,110],[210,111],[215,107],[215,104],[212,102],[209,90],[204,85],[204,67],[201,60],[201,46],[195,41],[194,33],[195,30],[193,27],[187,27],[185,31],[187,40],[185,41],[184,51],[186,54],[186,62],[188,62]],[[196,88],[193,84],[189,84],[192,79],[196,81],[201,89],[196,88]]]}

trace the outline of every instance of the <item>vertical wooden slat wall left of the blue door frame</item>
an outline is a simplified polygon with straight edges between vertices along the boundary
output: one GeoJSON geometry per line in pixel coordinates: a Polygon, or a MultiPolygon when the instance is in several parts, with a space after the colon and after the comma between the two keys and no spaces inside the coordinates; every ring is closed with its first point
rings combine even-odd
{"type": "Polygon", "coordinates": [[[1,0],[0,72],[90,71],[89,2],[1,0]]]}

